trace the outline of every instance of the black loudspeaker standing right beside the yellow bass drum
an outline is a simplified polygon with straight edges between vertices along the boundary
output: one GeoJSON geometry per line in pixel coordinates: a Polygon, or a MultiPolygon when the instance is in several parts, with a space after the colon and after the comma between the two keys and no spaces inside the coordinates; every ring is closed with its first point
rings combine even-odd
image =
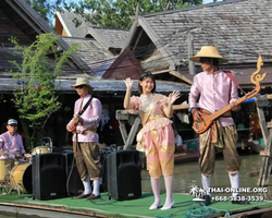
{"type": "Polygon", "coordinates": [[[33,158],[33,197],[54,199],[66,197],[65,157],[47,153],[33,158]]]}

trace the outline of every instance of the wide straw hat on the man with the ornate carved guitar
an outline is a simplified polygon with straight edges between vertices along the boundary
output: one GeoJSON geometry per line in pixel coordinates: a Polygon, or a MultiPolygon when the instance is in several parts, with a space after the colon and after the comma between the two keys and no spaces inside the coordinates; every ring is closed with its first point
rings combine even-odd
{"type": "Polygon", "coordinates": [[[202,46],[200,51],[189,58],[189,60],[194,62],[199,62],[200,58],[215,58],[219,62],[227,62],[227,59],[224,59],[222,56],[219,55],[218,49],[214,46],[202,46]]]}

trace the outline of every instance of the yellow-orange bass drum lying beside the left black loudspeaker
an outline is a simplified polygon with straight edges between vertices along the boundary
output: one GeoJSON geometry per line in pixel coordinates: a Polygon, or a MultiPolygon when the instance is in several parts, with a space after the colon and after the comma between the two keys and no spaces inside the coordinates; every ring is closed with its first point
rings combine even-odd
{"type": "Polygon", "coordinates": [[[32,177],[32,164],[15,166],[11,171],[11,187],[30,194],[33,192],[32,177]]]}

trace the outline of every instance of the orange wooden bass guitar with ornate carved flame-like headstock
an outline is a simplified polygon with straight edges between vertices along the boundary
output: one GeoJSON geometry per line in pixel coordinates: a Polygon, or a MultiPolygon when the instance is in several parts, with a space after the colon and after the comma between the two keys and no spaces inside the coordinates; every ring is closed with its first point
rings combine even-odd
{"type": "MultiPolygon", "coordinates": [[[[236,100],[236,105],[242,104],[244,100],[252,98],[256,96],[260,90],[261,90],[261,85],[260,82],[264,80],[267,76],[267,73],[263,73],[260,75],[261,66],[263,65],[261,56],[259,56],[258,61],[257,61],[257,71],[255,71],[250,75],[250,82],[256,85],[255,89],[251,90],[250,93],[247,93],[245,96],[236,100]]],[[[196,133],[200,134],[206,132],[209,126],[212,124],[212,122],[218,119],[220,116],[224,114],[226,111],[231,110],[231,106],[226,106],[223,109],[212,113],[212,114],[202,114],[201,116],[201,121],[197,122],[194,121],[193,123],[193,129],[195,130],[196,133]]]]}

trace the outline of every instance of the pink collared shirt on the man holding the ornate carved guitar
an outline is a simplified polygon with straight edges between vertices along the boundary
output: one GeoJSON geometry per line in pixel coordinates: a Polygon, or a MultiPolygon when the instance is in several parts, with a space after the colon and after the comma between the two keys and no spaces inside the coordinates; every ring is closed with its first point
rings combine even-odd
{"type": "MultiPolygon", "coordinates": [[[[190,108],[197,107],[198,97],[199,107],[213,113],[236,101],[238,92],[236,85],[222,70],[217,71],[214,75],[203,71],[194,76],[188,99],[190,108]]],[[[234,124],[232,118],[220,118],[220,121],[223,126],[234,124]]]]}

